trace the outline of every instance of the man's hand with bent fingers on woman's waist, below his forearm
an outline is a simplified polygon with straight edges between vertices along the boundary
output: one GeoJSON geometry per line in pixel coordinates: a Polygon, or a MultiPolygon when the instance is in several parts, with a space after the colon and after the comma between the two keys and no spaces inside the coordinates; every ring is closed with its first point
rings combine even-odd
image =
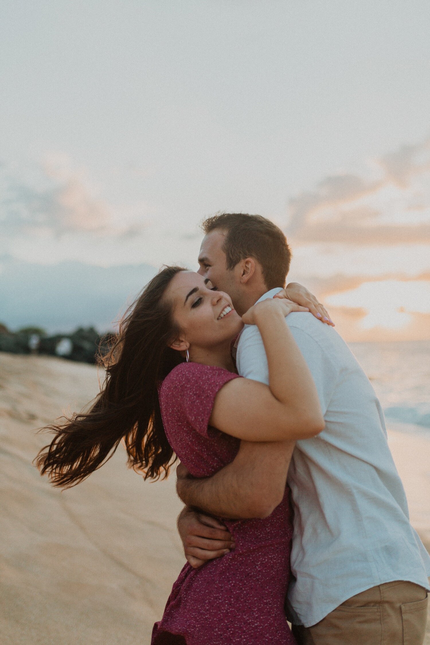
{"type": "Polygon", "coordinates": [[[222,522],[188,506],[178,517],[178,531],[185,557],[194,569],[235,548],[233,537],[222,522]]]}

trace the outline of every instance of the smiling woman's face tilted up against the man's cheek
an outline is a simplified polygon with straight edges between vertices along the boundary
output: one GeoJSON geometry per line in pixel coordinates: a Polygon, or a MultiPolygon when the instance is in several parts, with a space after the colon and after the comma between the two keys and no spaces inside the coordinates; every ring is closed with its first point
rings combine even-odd
{"type": "Polygon", "coordinates": [[[173,303],[173,319],[181,330],[181,341],[190,345],[190,353],[231,342],[242,329],[242,319],[233,309],[230,296],[213,291],[210,281],[199,273],[177,273],[165,297],[173,303]]]}

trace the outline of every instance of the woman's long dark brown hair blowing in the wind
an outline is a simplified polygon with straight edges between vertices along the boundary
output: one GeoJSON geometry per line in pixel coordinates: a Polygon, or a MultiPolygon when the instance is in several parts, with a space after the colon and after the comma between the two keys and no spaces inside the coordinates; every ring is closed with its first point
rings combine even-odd
{"type": "Polygon", "coordinates": [[[122,439],[129,466],[145,479],[168,475],[176,457],[164,432],[157,386],[184,359],[169,347],[178,330],[163,295],[182,270],[164,268],[122,318],[115,344],[101,357],[106,378],[90,410],[43,428],[55,437],[35,461],[54,486],[70,488],[86,479],[122,439]]]}

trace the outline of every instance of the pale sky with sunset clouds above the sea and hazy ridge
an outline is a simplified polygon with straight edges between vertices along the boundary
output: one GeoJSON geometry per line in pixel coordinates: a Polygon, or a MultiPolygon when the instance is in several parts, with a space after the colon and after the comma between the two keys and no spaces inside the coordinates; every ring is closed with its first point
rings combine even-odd
{"type": "Polygon", "coordinates": [[[205,216],[260,213],[344,337],[429,339],[429,30],[427,0],[3,0],[0,281],[195,268],[205,216]]]}

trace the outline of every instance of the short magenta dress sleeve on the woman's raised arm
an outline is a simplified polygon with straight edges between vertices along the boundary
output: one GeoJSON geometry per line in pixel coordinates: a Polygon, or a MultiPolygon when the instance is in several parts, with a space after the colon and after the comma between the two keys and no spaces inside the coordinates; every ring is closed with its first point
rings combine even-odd
{"type": "Polygon", "coordinates": [[[163,417],[174,416],[176,422],[186,421],[200,435],[208,437],[215,397],[223,385],[237,378],[240,378],[238,374],[223,368],[181,363],[162,382],[160,404],[163,417]]]}

